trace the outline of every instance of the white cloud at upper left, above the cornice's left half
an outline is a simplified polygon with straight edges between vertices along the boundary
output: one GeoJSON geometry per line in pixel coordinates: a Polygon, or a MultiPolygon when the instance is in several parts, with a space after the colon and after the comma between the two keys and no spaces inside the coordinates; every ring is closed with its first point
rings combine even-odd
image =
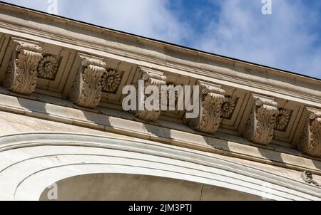
{"type": "MultiPolygon", "coordinates": [[[[48,1],[7,0],[47,11],[48,1]]],[[[188,24],[178,21],[169,0],[58,0],[58,15],[172,43],[188,38],[188,24]]]]}

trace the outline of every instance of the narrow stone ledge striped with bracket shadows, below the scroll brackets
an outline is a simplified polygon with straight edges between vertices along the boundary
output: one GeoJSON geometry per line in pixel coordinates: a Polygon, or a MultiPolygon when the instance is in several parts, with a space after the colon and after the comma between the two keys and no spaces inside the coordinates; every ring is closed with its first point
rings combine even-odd
{"type": "MultiPolygon", "coordinates": [[[[39,119],[88,127],[120,135],[128,135],[143,140],[154,140],[203,152],[239,157],[279,167],[287,167],[289,169],[300,171],[309,169],[315,174],[321,175],[320,160],[309,159],[299,152],[295,154],[290,149],[284,149],[284,152],[277,152],[276,149],[271,147],[255,147],[231,140],[220,140],[218,139],[222,138],[220,135],[216,138],[206,137],[166,127],[158,127],[156,125],[112,117],[101,113],[66,108],[24,98],[14,98],[9,95],[0,95],[0,100],[2,101],[0,110],[5,112],[14,112],[39,119]]],[[[105,112],[108,111],[106,110],[105,112]]]]}

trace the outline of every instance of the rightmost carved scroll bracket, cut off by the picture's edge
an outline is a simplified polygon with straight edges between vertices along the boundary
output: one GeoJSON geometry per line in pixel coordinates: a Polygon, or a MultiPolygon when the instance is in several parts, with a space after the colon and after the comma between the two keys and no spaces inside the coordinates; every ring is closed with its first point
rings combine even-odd
{"type": "Polygon", "coordinates": [[[321,110],[309,110],[308,115],[297,149],[312,157],[321,157],[321,110]]]}

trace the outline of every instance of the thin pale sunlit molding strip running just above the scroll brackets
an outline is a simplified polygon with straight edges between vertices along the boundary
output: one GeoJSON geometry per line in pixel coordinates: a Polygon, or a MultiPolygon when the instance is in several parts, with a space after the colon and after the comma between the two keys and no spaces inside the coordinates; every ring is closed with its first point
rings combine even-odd
{"type": "MultiPolygon", "coordinates": [[[[0,28],[1,32],[1,28],[0,28]]],[[[14,32],[11,32],[14,33],[14,32]]],[[[163,70],[168,71],[168,73],[173,73],[177,75],[186,75],[189,78],[195,78],[198,80],[206,80],[213,83],[220,83],[221,85],[226,85],[229,87],[240,88],[243,90],[248,90],[252,92],[260,92],[264,95],[270,95],[276,98],[284,98],[286,100],[295,100],[298,103],[305,103],[309,106],[315,106],[321,108],[321,89],[318,90],[318,86],[320,85],[321,80],[313,80],[312,78],[306,78],[310,81],[317,82],[312,84],[315,88],[305,89],[305,88],[297,88],[297,85],[293,83],[291,86],[295,87],[293,89],[282,89],[282,86],[287,85],[287,83],[283,83],[282,81],[277,81],[275,83],[280,83],[280,85],[273,85],[272,83],[266,85],[267,79],[264,78],[262,83],[256,82],[255,78],[251,77],[251,80],[246,80],[247,75],[236,75],[242,78],[233,78],[233,76],[226,75],[228,74],[230,68],[222,68],[220,66],[215,66],[214,70],[211,71],[211,68],[199,69],[192,67],[185,67],[179,64],[168,64],[168,62],[163,61],[154,61],[153,58],[141,58],[141,56],[131,56],[131,53],[118,53],[118,51],[107,51],[104,48],[93,49],[92,46],[79,46],[73,45],[72,43],[61,43],[56,40],[44,39],[39,36],[30,36],[29,34],[22,33],[20,36],[24,36],[25,38],[34,38],[34,41],[39,41],[41,43],[51,44],[54,46],[59,46],[61,48],[66,48],[70,50],[70,52],[81,52],[81,53],[91,53],[94,56],[100,56],[101,58],[111,58],[117,61],[126,62],[133,65],[144,65],[148,68],[153,68],[154,70],[163,70]],[[89,48],[91,47],[91,48],[89,48]],[[217,73],[222,72],[223,74],[217,73]],[[245,77],[243,77],[245,76],[245,77]],[[300,92],[300,90],[304,90],[305,92],[300,92]],[[312,91],[313,92],[312,92],[312,91]],[[309,93],[310,92],[310,93],[309,93]],[[320,93],[320,96],[317,96],[320,93]]],[[[7,35],[9,36],[9,35],[7,35]]],[[[10,37],[10,36],[9,36],[10,37]]],[[[233,71],[236,73],[236,71],[233,71]]],[[[291,75],[290,75],[291,76],[291,75]]],[[[297,75],[298,76],[298,75],[297,75]]],[[[296,77],[296,76],[294,76],[296,77]]],[[[4,74],[0,72],[0,81],[3,80],[4,74]]],[[[286,78],[285,78],[286,80],[286,78]]],[[[303,84],[303,83],[302,83],[303,84]]],[[[305,84],[305,86],[309,86],[309,84],[305,84]]]]}

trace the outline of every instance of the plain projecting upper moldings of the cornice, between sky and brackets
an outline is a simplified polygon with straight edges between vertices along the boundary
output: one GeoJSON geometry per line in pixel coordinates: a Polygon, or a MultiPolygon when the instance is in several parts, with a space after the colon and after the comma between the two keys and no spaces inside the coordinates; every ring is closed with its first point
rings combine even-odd
{"type": "Polygon", "coordinates": [[[26,15],[24,9],[1,4],[0,26],[6,29],[15,29],[16,33],[24,32],[34,34],[35,36],[41,35],[42,38],[53,38],[54,36],[56,41],[69,44],[72,44],[73,41],[78,41],[77,46],[83,46],[84,48],[91,47],[96,50],[116,54],[118,58],[119,56],[131,56],[131,58],[138,61],[166,65],[167,68],[170,67],[180,71],[185,70],[187,73],[195,75],[239,83],[243,87],[246,86],[246,88],[260,88],[273,93],[294,96],[299,99],[304,98],[311,102],[320,103],[320,80],[284,73],[280,70],[231,60],[208,53],[200,53],[188,48],[151,41],[147,38],[132,36],[56,16],[49,16],[48,14],[41,14],[36,11],[29,11],[26,15]],[[9,16],[9,12],[14,12],[16,16],[9,16]],[[24,19],[28,16],[29,19],[24,21],[24,19],[19,19],[19,16],[24,17],[24,19]],[[56,23],[54,27],[52,26],[52,20],[56,23]],[[33,23],[32,25],[31,22],[33,23]],[[21,25],[24,26],[23,29],[14,27],[21,25]],[[37,30],[39,28],[41,28],[41,32],[37,30]],[[74,33],[71,38],[71,31],[79,33],[74,33]],[[101,36],[102,33],[103,36],[101,36]],[[105,36],[108,40],[104,38],[105,36]],[[139,41],[139,43],[136,43],[136,41],[139,41]],[[146,52],[145,48],[154,51],[146,52]],[[180,56],[180,58],[173,56],[172,53],[175,53],[175,56],[180,56]],[[301,86],[304,86],[304,88],[301,86]],[[297,95],[299,92],[300,96],[297,95]]]}

